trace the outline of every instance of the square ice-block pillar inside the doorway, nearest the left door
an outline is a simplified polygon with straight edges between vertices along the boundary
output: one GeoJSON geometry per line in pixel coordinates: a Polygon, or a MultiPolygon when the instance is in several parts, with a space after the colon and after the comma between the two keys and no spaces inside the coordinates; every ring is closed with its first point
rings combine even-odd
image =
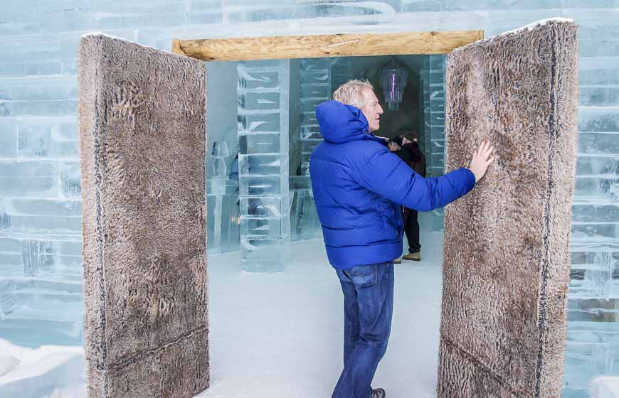
{"type": "Polygon", "coordinates": [[[246,271],[282,271],[290,249],[290,61],[238,63],[240,249],[246,271]]]}

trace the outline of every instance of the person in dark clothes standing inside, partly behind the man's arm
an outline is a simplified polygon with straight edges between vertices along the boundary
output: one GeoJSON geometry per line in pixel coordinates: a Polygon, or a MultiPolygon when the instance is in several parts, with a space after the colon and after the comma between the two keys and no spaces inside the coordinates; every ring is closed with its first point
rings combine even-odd
{"type": "MultiPolygon", "coordinates": [[[[425,177],[425,156],[420,151],[417,144],[417,133],[411,129],[398,130],[399,151],[394,152],[402,161],[418,173],[425,177]]],[[[408,254],[403,255],[405,260],[421,260],[421,244],[419,242],[419,221],[417,210],[403,207],[402,220],[404,222],[404,233],[408,240],[408,254]]]]}

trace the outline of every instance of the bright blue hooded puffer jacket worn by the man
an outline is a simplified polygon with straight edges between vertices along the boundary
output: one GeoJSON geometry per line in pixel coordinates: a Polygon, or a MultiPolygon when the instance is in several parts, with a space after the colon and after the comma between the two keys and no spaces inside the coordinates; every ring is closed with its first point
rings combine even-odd
{"type": "Polygon", "coordinates": [[[314,149],[309,173],[327,256],[335,268],[400,257],[400,205],[440,208],[475,186],[475,175],[466,168],[438,178],[419,176],[369,134],[367,119],[356,107],[323,102],[316,117],[324,141],[314,149]]]}

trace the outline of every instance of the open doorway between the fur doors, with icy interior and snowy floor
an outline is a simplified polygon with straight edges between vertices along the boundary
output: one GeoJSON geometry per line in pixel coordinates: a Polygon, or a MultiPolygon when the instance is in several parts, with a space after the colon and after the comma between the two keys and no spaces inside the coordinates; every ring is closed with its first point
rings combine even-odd
{"type": "MultiPolygon", "coordinates": [[[[445,55],[207,63],[212,384],[200,397],[331,394],[342,368],[342,293],[324,252],[307,172],[322,141],[314,107],[347,80],[369,80],[385,109],[376,134],[417,131],[428,176],[442,174],[444,63],[445,55]],[[407,72],[397,111],[388,109],[379,80],[392,59],[407,72]],[[245,191],[238,184],[243,178],[251,181],[245,191]],[[253,188],[260,185],[273,190],[253,188]],[[254,242],[242,234],[277,240],[286,238],[286,226],[291,243],[284,264],[274,256],[243,263],[253,255],[243,245],[254,242]]],[[[421,214],[420,227],[423,258],[396,268],[390,346],[376,375],[376,385],[388,385],[394,396],[435,395],[442,211],[421,214]]]]}

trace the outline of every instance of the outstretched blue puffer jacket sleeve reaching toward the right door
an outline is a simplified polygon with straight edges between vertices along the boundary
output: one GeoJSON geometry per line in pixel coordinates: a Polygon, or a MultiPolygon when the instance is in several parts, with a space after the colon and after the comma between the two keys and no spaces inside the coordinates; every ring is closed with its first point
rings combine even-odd
{"type": "Polygon", "coordinates": [[[419,211],[442,208],[475,186],[475,175],[467,168],[436,178],[423,178],[388,151],[377,151],[360,170],[358,182],[364,188],[419,211]]]}

